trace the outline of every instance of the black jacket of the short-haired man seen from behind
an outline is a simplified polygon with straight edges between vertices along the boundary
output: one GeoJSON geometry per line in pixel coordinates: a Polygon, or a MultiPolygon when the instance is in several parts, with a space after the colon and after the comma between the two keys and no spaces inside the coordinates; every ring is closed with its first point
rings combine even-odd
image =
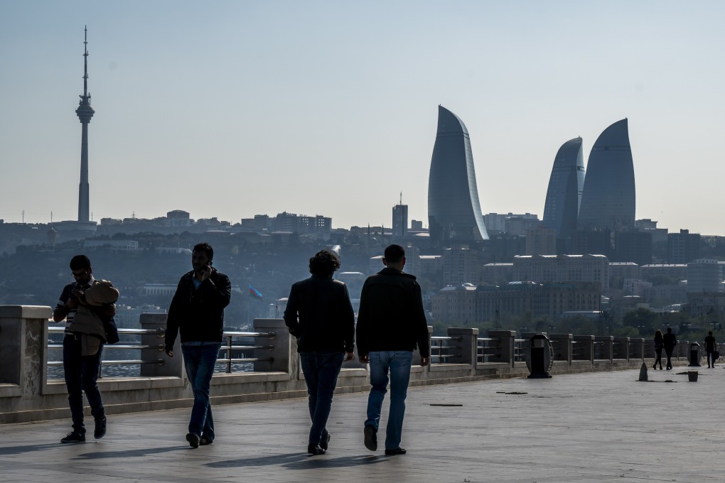
{"type": "Polygon", "coordinates": [[[357,353],[376,350],[415,350],[430,356],[428,322],[421,286],[415,277],[384,268],[368,277],[357,312],[357,353]]]}

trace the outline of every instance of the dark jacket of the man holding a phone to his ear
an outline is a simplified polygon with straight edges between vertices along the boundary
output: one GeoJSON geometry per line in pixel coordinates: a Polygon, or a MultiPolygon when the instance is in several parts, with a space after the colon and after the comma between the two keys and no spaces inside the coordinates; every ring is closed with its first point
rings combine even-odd
{"type": "Polygon", "coordinates": [[[174,345],[177,332],[181,332],[181,343],[221,342],[229,298],[229,277],[217,269],[212,268],[212,274],[198,289],[194,287],[194,270],[184,274],[166,318],[167,347],[174,345]]]}

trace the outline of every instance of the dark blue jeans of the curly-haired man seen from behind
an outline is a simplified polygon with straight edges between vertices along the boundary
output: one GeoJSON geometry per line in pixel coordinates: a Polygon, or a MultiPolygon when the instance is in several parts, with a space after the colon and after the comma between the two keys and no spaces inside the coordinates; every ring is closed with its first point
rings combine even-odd
{"type": "Polygon", "coordinates": [[[310,406],[310,445],[327,441],[327,419],[332,408],[337,376],[340,374],[344,354],[341,352],[301,352],[302,374],[307,382],[310,406]]]}

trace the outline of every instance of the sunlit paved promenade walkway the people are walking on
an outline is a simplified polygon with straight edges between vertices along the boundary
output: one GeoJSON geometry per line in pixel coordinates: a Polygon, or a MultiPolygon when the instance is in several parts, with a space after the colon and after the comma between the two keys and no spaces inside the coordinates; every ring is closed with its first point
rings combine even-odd
{"type": "Polygon", "coordinates": [[[184,440],[188,410],[111,416],[106,437],[81,445],[59,444],[68,421],[8,424],[0,481],[725,481],[725,366],[700,368],[697,382],[682,367],[650,370],[650,382],[638,376],[411,388],[402,456],[363,446],[364,394],[335,397],[330,450],[321,456],[306,453],[307,404],[299,399],[217,406],[217,440],[195,450],[184,440]]]}

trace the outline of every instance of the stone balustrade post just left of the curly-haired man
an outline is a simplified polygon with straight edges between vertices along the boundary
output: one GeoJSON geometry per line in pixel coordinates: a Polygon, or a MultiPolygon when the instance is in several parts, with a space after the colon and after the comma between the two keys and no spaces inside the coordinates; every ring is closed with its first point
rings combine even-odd
{"type": "MultiPolygon", "coordinates": [[[[254,319],[254,332],[274,332],[274,337],[254,337],[254,345],[272,345],[272,349],[254,349],[254,357],[271,361],[254,363],[255,372],[294,373],[292,364],[297,364],[297,352],[291,353],[289,331],[283,319],[254,319]]],[[[295,348],[297,350],[297,348],[295,348]]]]}

